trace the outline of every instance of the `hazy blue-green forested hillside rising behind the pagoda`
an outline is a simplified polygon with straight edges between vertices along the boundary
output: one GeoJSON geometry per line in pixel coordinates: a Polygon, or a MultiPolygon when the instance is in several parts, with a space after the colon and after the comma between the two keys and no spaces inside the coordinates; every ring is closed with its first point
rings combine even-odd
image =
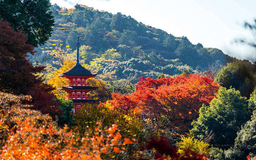
{"type": "Polygon", "coordinates": [[[53,59],[72,59],[77,35],[82,62],[98,74],[115,73],[117,79],[157,78],[161,73],[175,75],[184,69],[216,70],[233,59],[219,49],[192,44],[185,36],[175,37],[121,13],[111,14],[78,4],[72,9],[54,4],[51,10],[54,31],[45,45],[36,48],[32,63],[59,68],[61,64],[53,59]],[[57,51],[61,55],[56,56],[57,51]]]}

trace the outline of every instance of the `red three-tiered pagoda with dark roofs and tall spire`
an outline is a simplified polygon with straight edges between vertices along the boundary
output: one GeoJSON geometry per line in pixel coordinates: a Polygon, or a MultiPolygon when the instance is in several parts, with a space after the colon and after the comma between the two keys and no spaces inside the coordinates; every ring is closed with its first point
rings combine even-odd
{"type": "Polygon", "coordinates": [[[77,110],[86,103],[96,102],[96,100],[93,100],[90,98],[90,96],[87,96],[87,93],[97,89],[97,87],[92,87],[88,82],[86,82],[88,78],[95,77],[97,74],[92,74],[79,63],[79,36],[77,36],[76,50],[76,64],[68,71],[59,74],[60,77],[69,79],[66,86],[59,88],[59,90],[67,92],[68,95],[65,97],[66,100],[71,99],[73,101],[74,113],[76,113],[77,110]]]}

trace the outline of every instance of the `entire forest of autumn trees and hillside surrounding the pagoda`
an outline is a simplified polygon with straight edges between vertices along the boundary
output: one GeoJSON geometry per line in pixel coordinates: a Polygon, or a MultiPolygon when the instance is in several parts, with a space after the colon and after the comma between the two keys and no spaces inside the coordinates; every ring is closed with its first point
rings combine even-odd
{"type": "Polygon", "coordinates": [[[121,13],[0,8],[1,160],[256,160],[256,64],[121,13]],[[79,67],[98,74],[74,113],[59,88],[77,35],[79,67]]]}

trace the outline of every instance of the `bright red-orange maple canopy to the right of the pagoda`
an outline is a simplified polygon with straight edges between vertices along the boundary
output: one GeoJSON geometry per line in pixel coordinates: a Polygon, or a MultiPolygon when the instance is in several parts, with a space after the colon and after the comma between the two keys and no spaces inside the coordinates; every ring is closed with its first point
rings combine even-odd
{"type": "Polygon", "coordinates": [[[200,74],[160,79],[141,77],[135,92],[130,95],[112,94],[110,103],[115,109],[140,116],[168,115],[172,127],[186,130],[198,116],[201,105],[209,104],[219,87],[213,79],[200,74]]]}

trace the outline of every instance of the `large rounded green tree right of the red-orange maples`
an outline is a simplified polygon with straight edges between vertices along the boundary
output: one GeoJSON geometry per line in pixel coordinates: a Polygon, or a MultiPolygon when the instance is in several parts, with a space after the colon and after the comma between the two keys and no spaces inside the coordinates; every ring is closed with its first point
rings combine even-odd
{"type": "Polygon", "coordinates": [[[199,118],[192,122],[192,134],[199,140],[211,137],[210,144],[227,148],[234,143],[236,132],[252,114],[255,104],[235,89],[220,88],[210,105],[199,110],[199,118]]]}

